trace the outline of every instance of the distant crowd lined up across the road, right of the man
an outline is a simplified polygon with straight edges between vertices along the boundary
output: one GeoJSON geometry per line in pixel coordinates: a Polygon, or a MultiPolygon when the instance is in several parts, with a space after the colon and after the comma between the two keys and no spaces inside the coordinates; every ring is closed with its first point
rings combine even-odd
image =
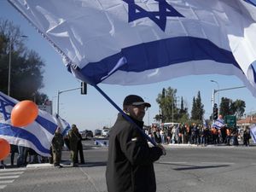
{"type": "Polygon", "coordinates": [[[155,143],[188,143],[205,146],[207,144],[221,144],[238,146],[238,137],[241,137],[245,146],[249,146],[250,131],[248,128],[243,130],[242,134],[238,128],[222,127],[221,129],[209,128],[203,125],[173,125],[160,127],[152,125],[145,129],[146,134],[151,137],[155,143]],[[232,143],[230,143],[232,141],[232,143]]]}

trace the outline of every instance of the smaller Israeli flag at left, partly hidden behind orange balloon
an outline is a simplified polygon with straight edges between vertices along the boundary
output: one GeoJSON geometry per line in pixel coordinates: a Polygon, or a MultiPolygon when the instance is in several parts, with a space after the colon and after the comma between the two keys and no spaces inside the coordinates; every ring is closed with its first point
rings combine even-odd
{"type": "Polygon", "coordinates": [[[32,148],[42,156],[49,156],[51,140],[57,128],[56,120],[49,113],[39,110],[32,124],[15,127],[11,125],[10,114],[17,102],[0,91],[0,137],[10,144],[32,148]]]}

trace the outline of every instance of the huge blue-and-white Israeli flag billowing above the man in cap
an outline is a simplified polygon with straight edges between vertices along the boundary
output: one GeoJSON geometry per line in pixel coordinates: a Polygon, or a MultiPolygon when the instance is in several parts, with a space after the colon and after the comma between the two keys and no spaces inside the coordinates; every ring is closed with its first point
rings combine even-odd
{"type": "Polygon", "coordinates": [[[256,96],[254,0],[9,0],[89,84],[236,75],[256,96]],[[254,65],[254,66],[253,66],[254,65]]]}

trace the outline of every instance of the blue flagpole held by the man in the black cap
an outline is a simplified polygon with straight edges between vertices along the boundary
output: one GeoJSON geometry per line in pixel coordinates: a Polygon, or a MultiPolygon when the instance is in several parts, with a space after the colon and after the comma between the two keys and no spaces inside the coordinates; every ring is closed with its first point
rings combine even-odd
{"type": "Polygon", "coordinates": [[[140,131],[143,137],[145,137],[154,146],[157,145],[152,138],[148,137],[148,135],[141,129],[141,127],[139,127],[121,108],[118,107],[118,105],[115,102],[113,102],[113,100],[109,96],[107,96],[105,92],[103,92],[103,90],[101,90],[101,88],[99,88],[96,84],[93,84],[93,86],[102,94],[102,96],[104,96],[108,100],[108,102],[110,102],[113,105],[114,108],[116,108],[119,111],[119,113],[123,115],[123,117],[126,120],[128,120],[131,124],[136,125],[137,130],[140,131]]]}

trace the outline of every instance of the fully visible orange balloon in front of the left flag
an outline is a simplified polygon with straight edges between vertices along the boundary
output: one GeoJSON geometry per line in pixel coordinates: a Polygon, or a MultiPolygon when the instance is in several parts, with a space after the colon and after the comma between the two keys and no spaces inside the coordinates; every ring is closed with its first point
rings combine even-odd
{"type": "Polygon", "coordinates": [[[11,122],[14,126],[26,126],[38,117],[38,106],[32,101],[22,101],[15,105],[11,112],[11,122]]]}

